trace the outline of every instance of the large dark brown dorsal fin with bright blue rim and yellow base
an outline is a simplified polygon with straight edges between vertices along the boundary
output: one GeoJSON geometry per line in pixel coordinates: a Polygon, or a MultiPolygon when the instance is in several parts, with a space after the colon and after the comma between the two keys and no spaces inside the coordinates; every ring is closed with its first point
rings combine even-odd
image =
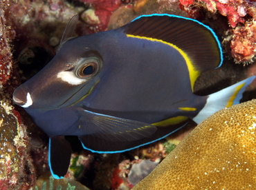
{"type": "Polygon", "coordinates": [[[221,44],[216,34],[207,25],[194,19],[171,14],[150,14],[140,16],[119,30],[127,36],[156,39],[178,47],[184,52],[192,90],[194,81],[207,70],[219,67],[223,61],[221,44]]]}

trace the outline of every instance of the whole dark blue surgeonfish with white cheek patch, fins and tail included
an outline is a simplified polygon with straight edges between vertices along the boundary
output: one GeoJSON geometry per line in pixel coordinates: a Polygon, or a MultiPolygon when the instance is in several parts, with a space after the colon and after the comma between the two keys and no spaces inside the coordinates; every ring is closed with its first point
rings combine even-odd
{"type": "Polygon", "coordinates": [[[116,153],[149,144],[239,103],[255,76],[209,96],[193,94],[196,78],[222,63],[214,32],[193,19],[143,15],[116,30],[71,38],[71,19],[53,60],[15,89],[50,137],[49,166],[62,178],[71,158],[64,136],[84,149],[116,153]]]}

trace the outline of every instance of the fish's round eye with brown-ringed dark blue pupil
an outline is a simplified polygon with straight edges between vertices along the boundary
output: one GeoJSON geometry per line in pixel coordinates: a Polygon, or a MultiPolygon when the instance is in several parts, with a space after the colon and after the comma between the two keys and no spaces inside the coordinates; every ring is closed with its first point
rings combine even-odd
{"type": "Polygon", "coordinates": [[[99,72],[101,63],[102,61],[96,57],[91,57],[89,59],[81,59],[77,63],[75,75],[78,78],[87,78],[89,76],[94,76],[99,72]]]}

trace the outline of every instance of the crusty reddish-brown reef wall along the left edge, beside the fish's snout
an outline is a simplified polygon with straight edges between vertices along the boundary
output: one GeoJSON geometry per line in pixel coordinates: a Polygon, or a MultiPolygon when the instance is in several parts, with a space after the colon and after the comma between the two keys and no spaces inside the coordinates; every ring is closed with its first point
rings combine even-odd
{"type": "Polygon", "coordinates": [[[21,115],[11,105],[12,92],[20,84],[10,45],[16,36],[8,17],[12,3],[0,2],[0,189],[29,189],[35,183],[30,138],[21,115]]]}

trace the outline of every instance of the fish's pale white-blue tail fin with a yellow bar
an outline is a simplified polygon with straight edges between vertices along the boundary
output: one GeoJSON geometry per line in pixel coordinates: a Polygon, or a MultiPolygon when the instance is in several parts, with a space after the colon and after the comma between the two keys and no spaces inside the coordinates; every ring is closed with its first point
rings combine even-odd
{"type": "Polygon", "coordinates": [[[219,92],[210,94],[203,109],[193,118],[194,122],[201,123],[205,118],[208,118],[220,109],[239,104],[246,87],[250,85],[255,78],[256,76],[250,76],[244,81],[240,81],[235,85],[221,89],[219,92]]]}

